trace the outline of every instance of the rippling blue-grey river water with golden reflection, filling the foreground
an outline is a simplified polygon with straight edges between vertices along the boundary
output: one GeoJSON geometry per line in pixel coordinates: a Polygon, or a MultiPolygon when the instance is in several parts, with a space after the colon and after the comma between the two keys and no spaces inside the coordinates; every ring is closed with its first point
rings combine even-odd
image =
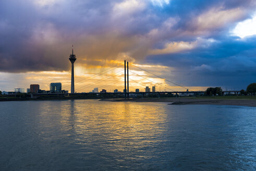
{"type": "Polygon", "coordinates": [[[256,170],[256,108],[0,103],[0,170],[256,170]]]}

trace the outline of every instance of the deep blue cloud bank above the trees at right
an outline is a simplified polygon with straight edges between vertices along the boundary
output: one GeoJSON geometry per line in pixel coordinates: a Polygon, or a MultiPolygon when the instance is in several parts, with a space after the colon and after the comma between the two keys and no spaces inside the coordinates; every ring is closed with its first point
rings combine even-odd
{"type": "Polygon", "coordinates": [[[148,62],[176,68],[165,77],[189,86],[200,83],[200,86],[245,89],[255,80],[255,54],[256,36],[247,39],[230,36],[186,53],[150,56],[148,62]]]}

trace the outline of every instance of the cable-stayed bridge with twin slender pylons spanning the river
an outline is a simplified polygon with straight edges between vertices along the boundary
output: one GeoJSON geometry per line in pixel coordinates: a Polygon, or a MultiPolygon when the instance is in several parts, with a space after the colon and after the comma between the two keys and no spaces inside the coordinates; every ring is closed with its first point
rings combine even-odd
{"type": "MultiPolygon", "coordinates": [[[[79,80],[75,86],[78,86],[79,84],[82,84],[86,81],[89,81],[89,80],[92,80],[96,77],[99,77],[99,76],[102,76],[104,74],[107,74],[107,72],[109,71],[113,71],[114,69],[119,69],[119,67],[123,65],[123,64],[117,64],[113,67],[109,67],[101,72],[98,72],[96,74],[94,74],[93,76],[89,77],[89,78],[84,78],[84,79],[81,79],[79,80]]],[[[124,92],[89,92],[89,93],[32,93],[31,94],[31,98],[36,98],[36,97],[39,97],[39,96],[52,96],[52,97],[56,97],[56,96],[59,96],[59,97],[65,97],[65,96],[83,96],[83,97],[124,97],[124,98],[129,98],[130,96],[141,96],[142,98],[144,96],[149,96],[149,95],[153,95],[153,96],[158,96],[158,97],[161,97],[161,96],[168,96],[168,95],[192,95],[192,96],[196,96],[196,95],[203,95],[204,94],[204,91],[193,91],[193,90],[190,90],[184,86],[182,86],[181,84],[178,84],[178,83],[175,83],[173,81],[170,81],[168,79],[165,79],[163,77],[160,77],[156,74],[154,74],[153,72],[150,72],[148,70],[145,70],[137,65],[134,65],[134,64],[129,64],[129,62],[126,62],[126,60],[124,61],[124,70],[121,69],[119,71],[117,71],[115,73],[115,76],[118,76],[118,75],[123,75],[124,74],[124,84],[123,86],[121,87],[118,87],[118,88],[124,88],[124,92]],[[171,83],[173,84],[174,86],[176,87],[179,87],[179,88],[182,88],[184,89],[184,91],[175,91],[175,90],[172,90],[170,88],[168,88],[167,86],[164,86],[162,85],[161,83],[157,83],[155,81],[152,81],[151,79],[145,77],[145,76],[141,76],[139,74],[136,74],[134,71],[131,71],[129,70],[129,65],[132,66],[133,68],[136,68],[137,70],[140,70],[140,71],[143,71],[143,72],[146,72],[147,74],[155,77],[155,78],[159,78],[159,79],[163,79],[165,80],[165,82],[168,82],[168,83],[171,83]],[[148,82],[151,82],[151,84],[154,84],[154,85],[157,85],[159,87],[162,87],[164,89],[168,89],[168,91],[151,91],[151,92],[130,92],[129,91],[129,87],[130,87],[130,82],[136,82],[137,84],[140,84],[144,87],[147,87],[147,85],[145,85],[144,83],[142,82],[139,82],[139,81],[136,81],[136,80],[133,80],[131,78],[129,78],[129,74],[132,74],[133,76],[137,76],[137,77],[140,77],[141,79],[143,80],[147,80],[148,82]],[[186,91],[185,91],[186,90],[186,91]]],[[[107,79],[110,79],[114,76],[108,76],[104,79],[101,79],[101,80],[98,80],[98,81],[95,81],[94,83],[90,83],[90,84],[87,84],[85,86],[81,86],[79,87],[76,91],[81,91],[81,90],[84,90],[86,88],[89,88],[90,86],[95,86],[97,83],[101,83],[103,81],[106,81],[107,79]]],[[[74,78],[73,78],[74,80],[74,78]]],[[[71,81],[71,88],[74,88],[74,82],[71,81]]],[[[111,82],[111,83],[108,83],[106,84],[105,86],[101,87],[101,88],[106,88],[106,87],[109,87],[109,86],[115,86],[116,82],[111,82]]],[[[67,86],[66,87],[63,87],[64,89],[65,88],[68,88],[67,86]]],[[[118,89],[116,88],[116,89],[118,89]]],[[[240,91],[223,91],[223,94],[225,93],[239,93],[240,91]]]]}

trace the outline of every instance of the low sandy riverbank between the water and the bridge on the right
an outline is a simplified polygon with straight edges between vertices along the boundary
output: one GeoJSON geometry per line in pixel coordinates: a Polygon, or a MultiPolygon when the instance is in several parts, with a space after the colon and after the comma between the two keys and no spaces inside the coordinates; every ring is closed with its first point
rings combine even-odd
{"type": "Polygon", "coordinates": [[[190,98],[155,98],[155,99],[105,99],[102,101],[111,102],[169,102],[171,105],[185,104],[215,104],[215,105],[236,105],[256,107],[256,100],[240,100],[240,99],[190,99],[190,98]]]}

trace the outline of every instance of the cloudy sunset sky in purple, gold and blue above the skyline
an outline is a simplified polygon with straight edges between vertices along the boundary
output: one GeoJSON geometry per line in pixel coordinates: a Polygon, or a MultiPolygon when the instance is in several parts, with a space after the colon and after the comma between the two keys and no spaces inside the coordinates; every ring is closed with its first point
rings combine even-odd
{"type": "Polygon", "coordinates": [[[76,92],[123,90],[124,60],[130,91],[256,82],[253,0],[1,0],[0,38],[2,91],[51,82],[70,91],[72,45],[76,92]]]}

